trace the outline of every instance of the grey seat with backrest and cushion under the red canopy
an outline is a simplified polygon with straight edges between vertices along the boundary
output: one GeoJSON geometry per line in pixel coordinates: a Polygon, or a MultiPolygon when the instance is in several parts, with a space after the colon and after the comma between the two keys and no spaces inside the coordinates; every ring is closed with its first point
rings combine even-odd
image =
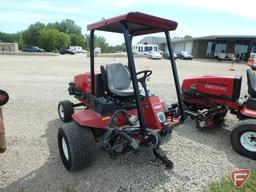
{"type": "Polygon", "coordinates": [[[131,75],[121,63],[106,65],[107,88],[110,92],[121,97],[134,95],[131,75]]]}

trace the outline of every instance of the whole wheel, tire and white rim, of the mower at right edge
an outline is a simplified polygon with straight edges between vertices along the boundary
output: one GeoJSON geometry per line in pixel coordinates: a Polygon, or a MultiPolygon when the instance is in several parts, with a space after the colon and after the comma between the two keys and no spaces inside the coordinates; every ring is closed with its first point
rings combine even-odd
{"type": "Polygon", "coordinates": [[[256,160],[256,119],[240,121],[231,131],[231,144],[240,155],[256,160]]]}

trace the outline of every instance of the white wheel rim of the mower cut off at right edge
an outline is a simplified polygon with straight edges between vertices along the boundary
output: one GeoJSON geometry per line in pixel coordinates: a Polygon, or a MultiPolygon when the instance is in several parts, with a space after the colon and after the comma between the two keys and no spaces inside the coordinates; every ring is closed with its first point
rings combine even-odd
{"type": "Polygon", "coordinates": [[[256,132],[243,133],[240,137],[240,143],[246,150],[256,152],[256,132]]]}

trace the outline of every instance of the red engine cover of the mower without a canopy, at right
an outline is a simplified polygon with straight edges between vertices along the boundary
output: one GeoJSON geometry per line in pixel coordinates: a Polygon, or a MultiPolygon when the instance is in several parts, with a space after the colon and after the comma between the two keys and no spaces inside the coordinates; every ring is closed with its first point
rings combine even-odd
{"type": "Polygon", "coordinates": [[[237,101],[240,97],[242,76],[200,76],[187,78],[182,83],[184,95],[203,95],[220,100],[237,101]]]}

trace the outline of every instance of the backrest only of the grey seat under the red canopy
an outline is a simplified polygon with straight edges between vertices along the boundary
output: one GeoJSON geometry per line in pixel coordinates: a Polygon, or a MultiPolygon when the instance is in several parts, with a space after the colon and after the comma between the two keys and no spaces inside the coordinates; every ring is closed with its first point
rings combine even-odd
{"type": "Polygon", "coordinates": [[[131,86],[131,76],[128,69],[121,63],[106,65],[108,88],[110,90],[125,90],[131,86]]]}

